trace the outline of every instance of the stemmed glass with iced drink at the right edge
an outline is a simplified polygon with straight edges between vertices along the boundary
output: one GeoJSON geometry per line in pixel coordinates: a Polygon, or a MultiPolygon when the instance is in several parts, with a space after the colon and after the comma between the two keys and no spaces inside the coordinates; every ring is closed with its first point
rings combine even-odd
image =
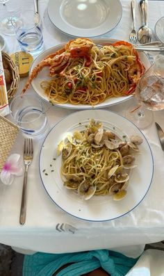
{"type": "Polygon", "coordinates": [[[156,56],[138,82],[135,94],[138,104],[130,106],[126,117],[140,129],[145,129],[153,122],[152,111],[164,109],[164,56],[156,56]]]}

